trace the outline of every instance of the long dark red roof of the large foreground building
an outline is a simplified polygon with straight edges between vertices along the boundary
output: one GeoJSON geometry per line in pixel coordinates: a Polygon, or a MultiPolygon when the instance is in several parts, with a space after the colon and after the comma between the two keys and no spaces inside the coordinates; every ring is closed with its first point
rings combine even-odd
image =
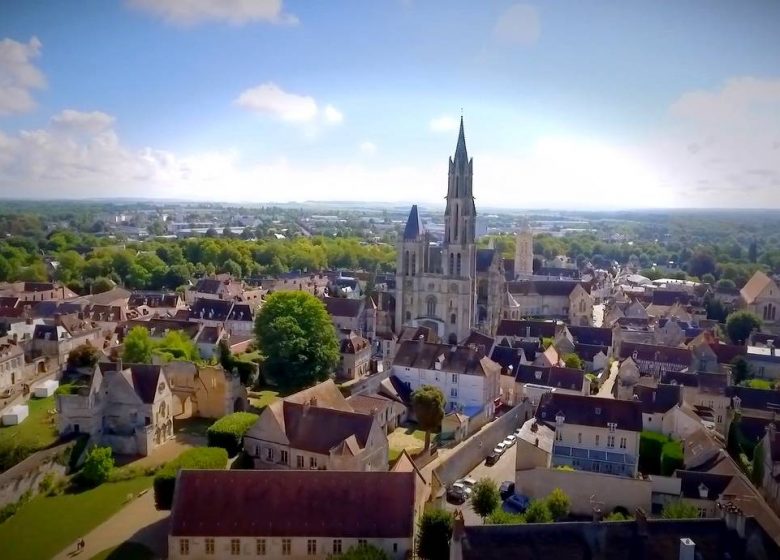
{"type": "Polygon", "coordinates": [[[414,472],[183,470],[175,537],[407,539],[414,530],[414,472]]]}

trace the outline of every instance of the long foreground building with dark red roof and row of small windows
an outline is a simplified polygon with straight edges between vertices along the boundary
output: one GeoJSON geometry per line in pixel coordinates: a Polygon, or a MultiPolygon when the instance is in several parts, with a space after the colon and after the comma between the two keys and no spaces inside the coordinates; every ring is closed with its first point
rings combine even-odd
{"type": "Polygon", "coordinates": [[[183,470],[168,558],[325,560],[370,544],[404,560],[414,553],[418,481],[410,470],[183,470]]]}

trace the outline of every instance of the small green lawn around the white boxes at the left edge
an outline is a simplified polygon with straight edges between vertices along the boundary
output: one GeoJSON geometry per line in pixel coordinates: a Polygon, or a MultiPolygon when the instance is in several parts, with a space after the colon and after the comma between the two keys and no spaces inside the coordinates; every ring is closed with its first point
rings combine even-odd
{"type": "MultiPolygon", "coordinates": [[[[30,415],[21,424],[0,427],[0,450],[4,457],[13,457],[11,460],[13,464],[30,453],[49,447],[58,438],[55,415],[49,414],[56,407],[54,397],[30,399],[27,404],[30,407],[30,415]],[[26,449],[27,452],[19,456],[12,451],[14,448],[26,449]]],[[[3,463],[0,458],[0,470],[3,468],[3,463]]]]}

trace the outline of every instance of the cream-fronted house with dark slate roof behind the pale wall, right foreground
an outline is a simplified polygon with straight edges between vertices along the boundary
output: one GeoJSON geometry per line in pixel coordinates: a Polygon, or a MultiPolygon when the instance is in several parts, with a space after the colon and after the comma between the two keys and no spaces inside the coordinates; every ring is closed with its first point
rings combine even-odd
{"type": "Polygon", "coordinates": [[[638,402],[552,392],[541,397],[536,420],[555,430],[551,466],[636,476],[642,432],[638,402]]]}

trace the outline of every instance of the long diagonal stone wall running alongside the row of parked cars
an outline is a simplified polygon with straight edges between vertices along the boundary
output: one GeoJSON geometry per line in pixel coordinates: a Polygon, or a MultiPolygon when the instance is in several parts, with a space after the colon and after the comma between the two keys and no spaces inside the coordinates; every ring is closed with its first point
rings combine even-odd
{"type": "Polygon", "coordinates": [[[442,484],[448,485],[485,460],[496,444],[519,428],[525,420],[525,406],[512,408],[447,454],[434,470],[442,484]]]}

